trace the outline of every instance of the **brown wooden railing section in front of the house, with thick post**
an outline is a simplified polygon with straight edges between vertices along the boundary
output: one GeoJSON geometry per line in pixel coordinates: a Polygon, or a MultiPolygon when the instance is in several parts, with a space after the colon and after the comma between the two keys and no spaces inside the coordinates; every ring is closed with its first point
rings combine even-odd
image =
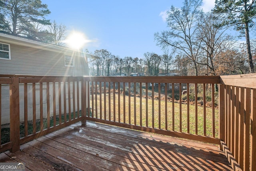
{"type": "Polygon", "coordinates": [[[10,87],[10,142],[0,151],[17,151],[20,144],[84,118],[83,77],[12,76],[0,83],[10,87]]]}

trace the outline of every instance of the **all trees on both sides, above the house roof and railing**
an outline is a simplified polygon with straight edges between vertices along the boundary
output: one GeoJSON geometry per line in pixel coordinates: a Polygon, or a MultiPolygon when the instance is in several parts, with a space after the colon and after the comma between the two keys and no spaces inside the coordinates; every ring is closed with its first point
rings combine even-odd
{"type": "MultiPolygon", "coordinates": [[[[256,65],[256,0],[216,0],[203,12],[202,0],[184,0],[166,12],[168,30],[154,34],[162,54],[118,56],[106,49],[91,52],[91,75],[130,75],[177,72],[182,76],[254,73],[256,65]],[[232,34],[231,34],[232,33],[232,34]],[[238,38],[245,38],[238,43],[238,38]]],[[[40,0],[0,0],[0,31],[65,45],[66,26],[46,19],[47,4],[40,0]]],[[[89,51],[86,51],[90,53],[89,51]]]]}

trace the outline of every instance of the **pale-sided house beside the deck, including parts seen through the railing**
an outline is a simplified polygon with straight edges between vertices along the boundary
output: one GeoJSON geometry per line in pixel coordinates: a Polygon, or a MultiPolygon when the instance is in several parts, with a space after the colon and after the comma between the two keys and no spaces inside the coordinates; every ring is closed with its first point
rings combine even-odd
{"type": "MultiPolygon", "coordinates": [[[[92,59],[98,57],[78,52],[64,46],[48,44],[22,36],[0,32],[0,75],[88,76],[88,58],[92,59]]],[[[56,88],[57,87],[58,84],[56,84],[56,88]]],[[[63,83],[61,84],[61,87],[63,88],[63,83]]],[[[71,89],[72,88],[73,87],[71,86],[71,89]]],[[[23,89],[24,86],[20,85],[20,91],[23,89]]],[[[76,89],[76,86],[74,89],[76,89]]],[[[56,89],[56,91],[58,90],[56,89]]],[[[52,92],[52,84],[50,85],[50,92],[52,92]]],[[[39,94],[39,85],[36,85],[36,93],[39,94]]],[[[43,84],[43,93],[46,93],[46,84],[43,84]]],[[[28,97],[32,97],[31,95],[32,85],[28,84],[28,97]]],[[[50,94],[50,96],[51,95],[52,94],[50,94]]],[[[45,94],[43,96],[46,97],[45,94]]],[[[71,93],[71,99],[72,97],[71,93]]],[[[10,121],[8,114],[10,113],[8,98],[9,86],[2,85],[2,105],[4,105],[4,107],[2,107],[2,124],[9,123],[10,121]]],[[[36,96],[36,98],[39,98],[39,96],[36,96]]],[[[20,96],[21,121],[24,119],[22,113],[22,111],[24,111],[23,99],[24,97],[20,96]]],[[[39,101],[39,99],[36,99],[36,101],[39,101]]],[[[46,111],[46,98],[43,99],[43,104],[43,110],[46,111]]],[[[38,109],[39,103],[36,105],[36,108],[38,109]]],[[[58,106],[56,106],[56,109],[58,112],[58,106]]],[[[63,109],[64,107],[62,105],[62,111],[63,109]]],[[[32,99],[29,98],[28,111],[31,110],[32,99]]],[[[40,117],[39,112],[39,110],[36,111],[37,119],[40,117]]],[[[52,109],[50,114],[52,115],[52,109]]]]}

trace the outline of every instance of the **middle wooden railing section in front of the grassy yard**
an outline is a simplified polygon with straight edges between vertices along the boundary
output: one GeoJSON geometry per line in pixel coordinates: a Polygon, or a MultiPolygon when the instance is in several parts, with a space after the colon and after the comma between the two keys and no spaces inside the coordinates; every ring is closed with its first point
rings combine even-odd
{"type": "Polygon", "coordinates": [[[91,107],[86,119],[220,144],[218,113],[211,105],[218,103],[214,87],[219,80],[215,76],[85,77],[86,94],[90,94],[86,102],[91,107]]]}

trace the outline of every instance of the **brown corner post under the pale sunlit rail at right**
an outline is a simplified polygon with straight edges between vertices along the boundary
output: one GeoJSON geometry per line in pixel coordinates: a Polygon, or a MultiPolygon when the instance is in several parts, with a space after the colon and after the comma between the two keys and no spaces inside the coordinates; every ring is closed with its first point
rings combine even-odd
{"type": "MultiPolygon", "coordinates": [[[[219,84],[219,139],[225,141],[225,85],[219,84]]],[[[220,145],[222,150],[222,146],[220,145]]]]}

